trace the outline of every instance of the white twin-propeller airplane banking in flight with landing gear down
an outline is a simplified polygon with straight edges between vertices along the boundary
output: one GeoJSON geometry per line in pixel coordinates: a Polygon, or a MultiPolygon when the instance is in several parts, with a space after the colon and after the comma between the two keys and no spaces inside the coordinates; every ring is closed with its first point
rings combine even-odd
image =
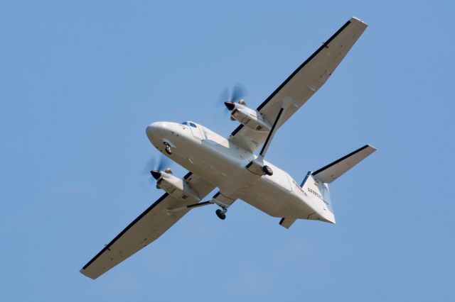
{"type": "Polygon", "coordinates": [[[237,199],[280,218],[284,228],[297,219],[335,223],[328,185],[375,152],[374,147],[365,145],[310,171],[300,184],[265,160],[265,155],[277,130],[321,88],[366,27],[360,19],[350,18],[256,109],[247,107],[243,99],[225,101],[230,118],[240,123],[228,138],[193,121],[148,125],[146,135],[154,147],[189,172],[178,178],[170,169],[152,170],[151,176],[164,195],[80,272],[96,279],[163,235],[193,208],[215,204],[219,207],[216,215],[224,220],[237,199]],[[259,147],[259,155],[255,155],[259,147]],[[217,188],[217,193],[204,201],[217,188]]]}

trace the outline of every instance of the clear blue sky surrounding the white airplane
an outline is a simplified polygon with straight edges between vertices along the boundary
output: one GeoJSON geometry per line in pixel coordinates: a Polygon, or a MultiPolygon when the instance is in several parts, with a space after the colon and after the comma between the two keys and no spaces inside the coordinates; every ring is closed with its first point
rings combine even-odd
{"type": "MultiPolygon", "coordinates": [[[[1,1],[1,301],[454,301],[451,1],[1,1]],[[191,2],[191,4],[190,4],[191,2]],[[267,159],[331,186],[336,225],[192,211],[96,281],[79,269],[161,196],[152,121],[237,124],[351,16],[369,24],[267,159]]],[[[177,175],[185,171],[176,164],[177,175]]]]}

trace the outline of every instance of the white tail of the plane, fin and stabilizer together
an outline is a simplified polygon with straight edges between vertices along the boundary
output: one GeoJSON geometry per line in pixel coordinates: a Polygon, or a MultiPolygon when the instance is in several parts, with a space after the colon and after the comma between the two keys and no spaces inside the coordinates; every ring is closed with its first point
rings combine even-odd
{"type": "MultiPolygon", "coordinates": [[[[335,216],[333,214],[328,184],[338,177],[341,177],[341,175],[347,172],[350,168],[354,167],[355,164],[358,164],[375,151],[375,147],[365,145],[360,149],[341,157],[339,160],[326,165],[316,172],[310,171],[306,174],[304,181],[301,183],[302,189],[304,189],[307,196],[323,203],[324,217],[323,219],[318,218],[319,220],[335,223],[335,216]]],[[[309,216],[309,219],[315,218],[311,218],[311,216],[309,216]]]]}

